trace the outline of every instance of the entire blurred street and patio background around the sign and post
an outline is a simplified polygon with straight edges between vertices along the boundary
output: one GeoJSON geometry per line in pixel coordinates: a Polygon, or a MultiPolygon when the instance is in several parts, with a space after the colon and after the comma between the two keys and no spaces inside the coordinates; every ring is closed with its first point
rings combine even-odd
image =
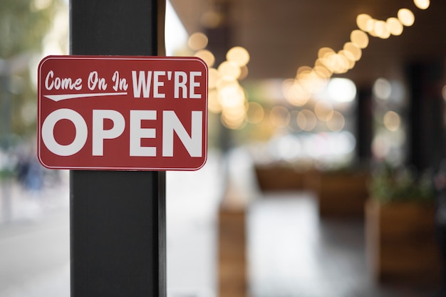
{"type": "MultiPolygon", "coordinates": [[[[446,296],[446,2],[170,0],[209,66],[209,155],[167,172],[170,297],[446,296]]],[[[0,3],[0,296],[69,296],[68,172],[36,69],[68,1],[0,3]]]]}

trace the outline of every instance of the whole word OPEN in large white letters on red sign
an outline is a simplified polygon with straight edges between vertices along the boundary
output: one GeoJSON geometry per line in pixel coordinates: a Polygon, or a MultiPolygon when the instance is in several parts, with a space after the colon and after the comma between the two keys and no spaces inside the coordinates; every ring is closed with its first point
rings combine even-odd
{"type": "MultiPolygon", "coordinates": [[[[191,135],[182,125],[173,110],[162,111],[162,157],[173,157],[174,132],[180,138],[191,157],[202,157],[202,112],[192,111],[191,135]]],[[[156,129],[142,127],[142,120],[157,120],[156,110],[130,110],[130,123],[125,123],[124,116],[117,110],[93,110],[92,123],[93,156],[103,156],[104,140],[120,137],[126,125],[130,125],[129,154],[138,157],[157,157],[157,147],[142,147],[141,140],[155,138],[156,129]],[[111,120],[113,127],[106,130],[104,120],[111,120]]],[[[75,110],[61,108],[54,110],[43,121],[41,135],[48,150],[59,156],[75,155],[83,149],[88,139],[88,127],[85,119],[75,110]],[[54,127],[59,120],[69,120],[76,128],[76,134],[68,145],[61,145],[53,135],[54,127]]],[[[111,143],[110,145],[113,145],[111,143]]]]}

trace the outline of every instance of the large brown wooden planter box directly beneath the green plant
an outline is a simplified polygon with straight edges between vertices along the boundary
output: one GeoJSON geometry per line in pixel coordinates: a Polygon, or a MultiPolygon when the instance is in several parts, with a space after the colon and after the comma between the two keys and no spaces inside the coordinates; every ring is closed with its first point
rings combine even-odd
{"type": "Polygon", "coordinates": [[[368,267],[378,281],[435,283],[440,254],[433,206],[410,202],[365,205],[368,267]]]}

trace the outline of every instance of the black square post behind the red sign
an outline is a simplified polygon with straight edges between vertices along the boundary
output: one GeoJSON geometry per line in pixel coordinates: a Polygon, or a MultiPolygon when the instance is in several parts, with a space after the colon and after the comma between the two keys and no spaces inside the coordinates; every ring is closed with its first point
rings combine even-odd
{"type": "MultiPolygon", "coordinates": [[[[71,0],[71,54],[164,54],[165,0],[71,0]]],[[[71,296],[165,297],[165,172],[70,176],[71,296]]]]}

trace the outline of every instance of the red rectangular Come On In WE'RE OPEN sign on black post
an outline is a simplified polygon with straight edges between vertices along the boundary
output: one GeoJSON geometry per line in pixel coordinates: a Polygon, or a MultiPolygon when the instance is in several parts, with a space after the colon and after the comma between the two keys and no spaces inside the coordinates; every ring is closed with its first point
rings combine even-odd
{"type": "Polygon", "coordinates": [[[201,168],[207,72],[194,57],[43,58],[38,160],[68,170],[201,168]]]}

